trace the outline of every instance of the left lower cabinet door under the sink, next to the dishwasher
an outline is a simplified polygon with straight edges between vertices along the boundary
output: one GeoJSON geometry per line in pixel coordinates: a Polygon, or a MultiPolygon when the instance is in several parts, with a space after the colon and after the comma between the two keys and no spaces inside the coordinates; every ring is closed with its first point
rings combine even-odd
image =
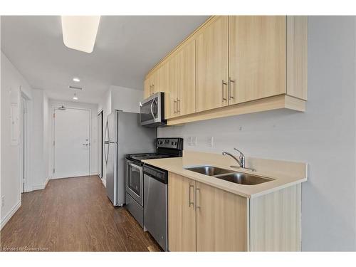
{"type": "Polygon", "coordinates": [[[169,172],[169,251],[196,251],[194,184],[191,179],[169,172]],[[189,204],[189,199],[193,204],[189,204]]]}

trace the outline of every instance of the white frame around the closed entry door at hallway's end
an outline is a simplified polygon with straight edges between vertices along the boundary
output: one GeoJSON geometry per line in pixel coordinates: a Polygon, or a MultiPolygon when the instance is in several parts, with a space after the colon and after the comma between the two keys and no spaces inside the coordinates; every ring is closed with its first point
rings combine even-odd
{"type": "MultiPolygon", "coordinates": [[[[88,176],[90,176],[91,174],[91,145],[92,145],[92,140],[91,140],[91,131],[92,131],[92,117],[91,117],[91,109],[90,108],[76,108],[76,107],[67,107],[65,106],[66,109],[68,110],[87,110],[89,111],[89,172],[88,172],[88,176]]],[[[51,179],[61,179],[63,177],[56,177],[56,157],[55,157],[55,153],[56,153],[56,146],[54,143],[55,140],[55,136],[56,136],[56,123],[55,123],[55,111],[58,110],[58,108],[61,108],[61,105],[54,105],[52,107],[52,142],[51,142],[51,146],[52,146],[52,169],[51,169],[51,173],[52,173],[52,178],[51,179]]]]}

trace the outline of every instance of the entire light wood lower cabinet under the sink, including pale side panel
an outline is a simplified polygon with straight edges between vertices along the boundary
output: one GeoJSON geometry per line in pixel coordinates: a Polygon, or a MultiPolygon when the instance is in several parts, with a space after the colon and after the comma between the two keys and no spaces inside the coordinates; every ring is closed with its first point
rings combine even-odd
{"type": "Polygon", "coordinates": [[[169,251],[300,251],[300,184],[248,199],[168,179],[169,251]]]}

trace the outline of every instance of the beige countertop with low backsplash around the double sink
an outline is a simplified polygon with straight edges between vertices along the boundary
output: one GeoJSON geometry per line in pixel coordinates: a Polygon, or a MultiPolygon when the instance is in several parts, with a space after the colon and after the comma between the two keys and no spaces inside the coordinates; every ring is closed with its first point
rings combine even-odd
{"type": "Polygon", "coordinates": [[[197,182],[209,184],[213,187],[217,187],[234,194],[239,194],[247,198],[268,194],[285,187],[290,187],[294,184],[305,182],[308,179],[308,164],[300,162],[279,161],[274,159],[247,158],[246,166],[256,169],[256,172],[251,172],[241,168],[231,168],[231,164],[236,164],[231,162],[229,157],[203,152],[184,152],[183,157],[146,159],[143,160],[143,162],[161,169],[166,169],[168,172],[174,172],[175,174],[188,177],[197,182]],[[235,172],[249,173],[273,180],[255,185],[235,184],[233,182],[224,181],[222,179],[184,169],[186,167],[203,165],[231,169],[235,172]]]}

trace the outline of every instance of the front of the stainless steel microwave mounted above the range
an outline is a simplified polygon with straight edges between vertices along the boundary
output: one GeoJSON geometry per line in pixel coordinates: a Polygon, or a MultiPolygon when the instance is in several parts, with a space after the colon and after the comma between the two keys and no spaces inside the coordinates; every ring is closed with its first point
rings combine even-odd
{"type": "Polygon", "coordinates": [[[140,103],[140,125],[155,125],[162,120],[161,93],[155,93],[140,103]]]}

